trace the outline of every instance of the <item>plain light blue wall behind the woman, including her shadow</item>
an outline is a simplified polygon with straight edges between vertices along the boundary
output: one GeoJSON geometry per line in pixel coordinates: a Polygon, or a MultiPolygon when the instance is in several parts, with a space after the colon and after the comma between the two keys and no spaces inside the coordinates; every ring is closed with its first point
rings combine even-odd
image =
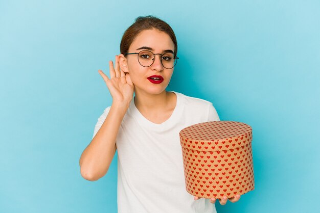
{"type": "MultiPolygon", "coordinates": [[[[117,158],[79,158],[111,104],[98,73],[140,15],[178,40],[170,86],[253,127],[256,189],[218,212],[315,212],[319,1],[0,1],[0,212],[117,212],[117,158]]],[[[116,155],[117,157],[117,155],[116,155]]]]}

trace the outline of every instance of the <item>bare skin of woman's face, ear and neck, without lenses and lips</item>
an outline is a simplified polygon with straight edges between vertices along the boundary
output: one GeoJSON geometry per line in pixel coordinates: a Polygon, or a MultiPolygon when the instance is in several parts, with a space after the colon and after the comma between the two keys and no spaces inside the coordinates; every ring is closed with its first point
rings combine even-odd
{"type": "MultiPolygon", "coordinates": [[[[151,47],[154,54],[163,54],[164,50],[174,51],[174,44],[168,34],[158,30],[142,31],[131,43],[128,52],[139,52],[140,47],[151,47]]],[[[163,116],[169,117],[174,110],[176,95],[166,91],[173,74],[172,69],[166,69],[161,64],[160,56],[155,56],[155,61],[150,67],[143,67],[138,62],[137,55],[124,57],[119,55],[121,70],[130,74],[134,84],[136,108],[153,121],[161,123],[163,116]],[[152,84],[147,77],[161,75],[164,81],[161,84],[152,84]]]]}

